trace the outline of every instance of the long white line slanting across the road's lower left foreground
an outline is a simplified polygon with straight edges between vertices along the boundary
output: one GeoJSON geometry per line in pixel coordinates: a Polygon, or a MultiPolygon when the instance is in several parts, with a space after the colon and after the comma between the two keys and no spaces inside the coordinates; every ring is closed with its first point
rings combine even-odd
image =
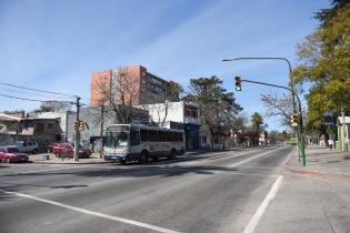
{"type": "Polygon", "coordinates": [[[108,219],[108,220],[113,220],[116,222],[122,222],[122,223],[127,223],[127,224],[131,224],[131,225],[141,226],[141,227],[144,227],[144,229],[150,229],[150,230],[158,231],[158,232],[180,233],[180,232],[177,232],[177,231],[159,227],[159,226],[156,226],[156,225],[150,225],[150,224],[137,222],[137,221],[133,221],[133,220],[128,220],[128,219],[123,219],[123,217],[119,217],[119,216],[108,215],[108,214],[103,214],[103,213],[99,213],[99,212],[94,212],[94,211],[89,211],[89,210],[86,210],[86,209],[76,207],[76,206],[72,206],[72,205],[68,205],[68,204],[63,204],[63,203],[59,203],[59,202],[54,202],[54,201],[37,197],[37,196],[24,194],[24,193],[9,192],[9,191],[4,191],[4,190],[0,190],[0,192],[7,193],[7,194],[12,194],[12,195],[18,195],[18,196],[26,197],[26,199],[36,200],[38,202],[44,202],[44,203],[48,203],[48,204],[57,205],[57,206],[60,206],[60,207],[69,209],[69,210],[72,210],[72,211],[84,213],[84,214],[90,214],[90,215],[93,215],[93,216],[99,216],[99,217],[103,217],[103,219],[108,219]]]}

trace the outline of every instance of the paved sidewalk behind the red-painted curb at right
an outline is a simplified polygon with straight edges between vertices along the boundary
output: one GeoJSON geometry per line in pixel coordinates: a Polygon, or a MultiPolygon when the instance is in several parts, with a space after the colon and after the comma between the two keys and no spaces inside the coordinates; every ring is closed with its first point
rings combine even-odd
{"type": "Polygon", "coordinates": [[[330,151],[329,148],[319,145],[308,145],[306,149],[307,166],[298,156],[296,150],[292,158],[286,164],[288,171],[299,174],[338,176],[350,179],[350,153],[337,150],[330,151]]]}

